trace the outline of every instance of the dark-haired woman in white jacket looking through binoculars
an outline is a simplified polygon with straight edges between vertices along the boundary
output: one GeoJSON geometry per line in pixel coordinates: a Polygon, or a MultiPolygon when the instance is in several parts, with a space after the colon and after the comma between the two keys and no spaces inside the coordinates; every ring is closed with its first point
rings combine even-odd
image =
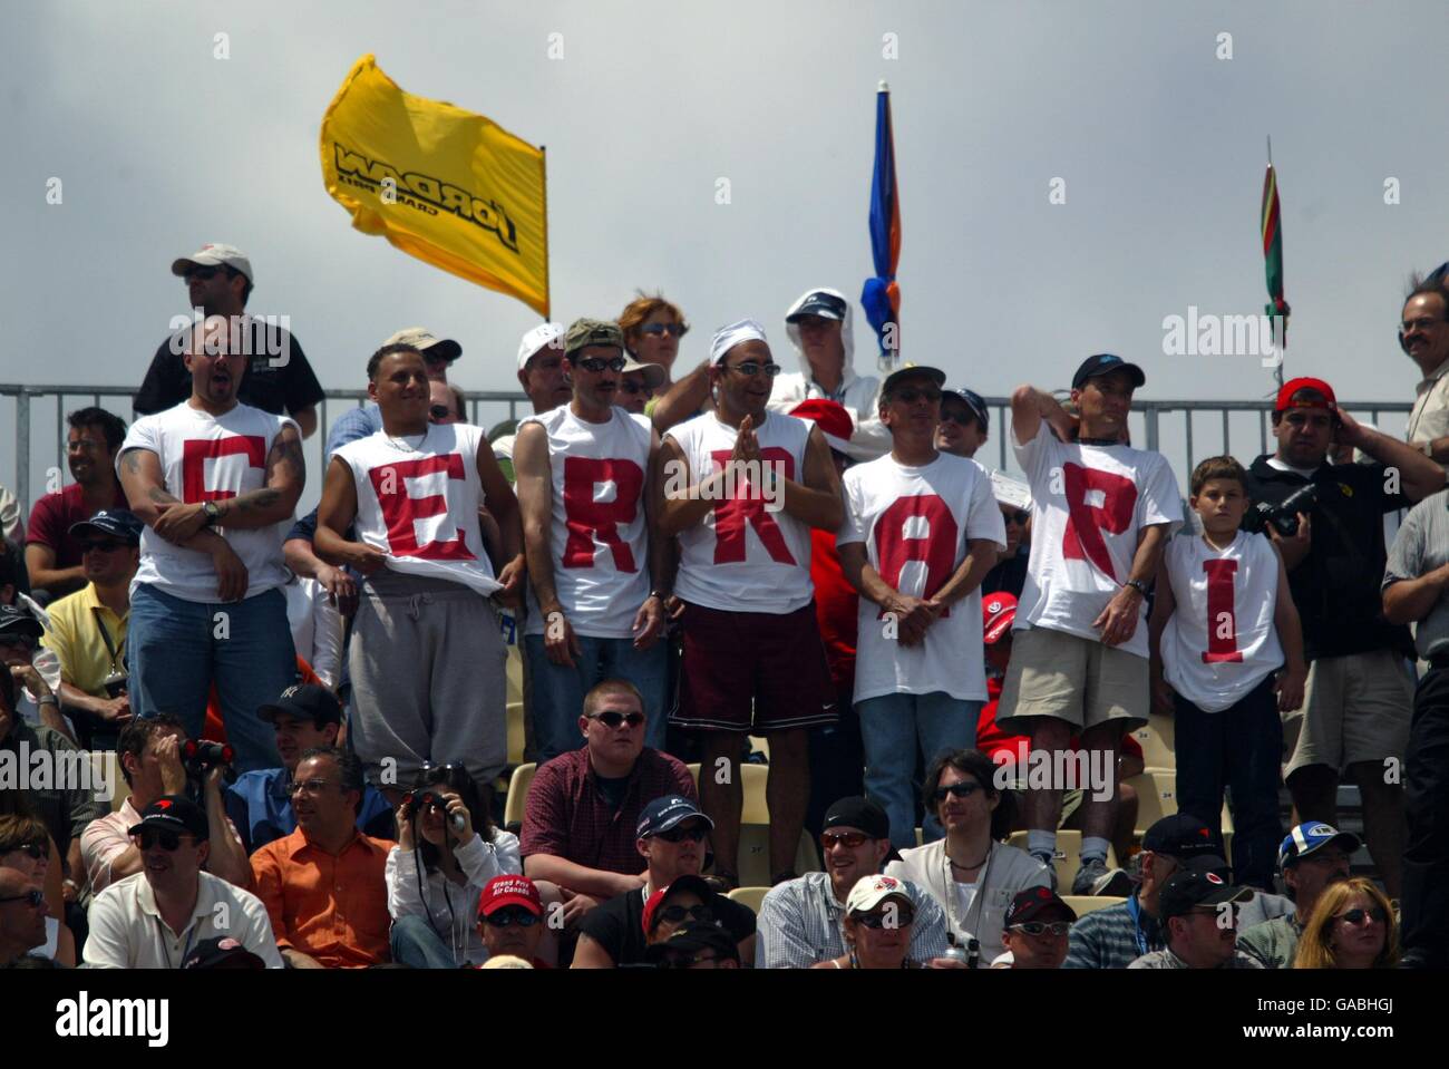
{"type": "Polygon", "coordinates": [[[478,900],[494,876],[522,872],[517,836],[493,826],[467,769],[423,768],[397,808],[397,846],[387,855],[393,960],[419,969],[485,960],[478,900]]]}

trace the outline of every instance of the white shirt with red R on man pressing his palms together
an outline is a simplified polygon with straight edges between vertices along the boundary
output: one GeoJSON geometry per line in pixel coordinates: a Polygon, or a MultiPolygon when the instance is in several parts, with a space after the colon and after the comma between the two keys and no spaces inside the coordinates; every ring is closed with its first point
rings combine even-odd
{"type": "MultiPolygon", "coordinates": [[[[778,411],[755,429],[761,461],[785,478],[804,478],[810,423],[778,411]]],[[[681,492],[722,471],[739,432],[704,413],[674,427],[687,472],[664,472],[665,494],[681,492]]],[[[761,490],[748,478],[735,481],[729,500],[680,533],[680,574],[674,592],[684,601],[723,613],[782,616],[810,604],[810,527],[780,508],[778,481],[761,490]]]]}

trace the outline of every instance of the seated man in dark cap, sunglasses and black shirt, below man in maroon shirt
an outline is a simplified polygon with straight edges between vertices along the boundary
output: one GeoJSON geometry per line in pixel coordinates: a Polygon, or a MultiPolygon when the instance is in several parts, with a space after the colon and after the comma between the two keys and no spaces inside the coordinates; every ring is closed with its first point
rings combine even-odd
{"type": "MultiPolygon", "coordinates": [[[[753,911],[710,891],[700,879],[706,840],[713,830],[714,821],[684,795],[651,801],[639,814],[635,830],[636,849],[648,862],[643,886],[611,898],[584,918],[574,968],[613,969],[646,962],[651,921],[665,908],[665,898],[672,898],[661,892],[682,879],[687,888],[680,891],[688,889],[693,901],[680,920],[711,921],[723,927],[735,937],[740,962],[748,969],[755,960],[753,911]]],[[[678,898],[684,901],[682,895],[678,898]]]]}

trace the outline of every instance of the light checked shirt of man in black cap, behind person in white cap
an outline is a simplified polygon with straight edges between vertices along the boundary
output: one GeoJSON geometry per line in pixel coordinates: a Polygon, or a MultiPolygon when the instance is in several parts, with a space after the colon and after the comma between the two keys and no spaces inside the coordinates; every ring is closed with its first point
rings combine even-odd
{"type": "MultiPolygon", "coordinates": [[[[940,904],[909,879],[906,891],[916,904],[910,957],[929,962],[946,953],[946,914],[940,904]]],[[[827,872],[807,872],[771,888],[759,907],[755,946],[756,969],[809,969],[816,962],[845,953],[840,918],[845,907],[835,898],[827,872]]]]}

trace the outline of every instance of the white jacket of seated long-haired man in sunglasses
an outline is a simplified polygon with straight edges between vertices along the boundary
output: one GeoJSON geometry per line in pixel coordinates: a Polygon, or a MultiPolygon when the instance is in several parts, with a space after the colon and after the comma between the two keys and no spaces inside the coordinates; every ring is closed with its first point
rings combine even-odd
{"type": "Polygon", "coordinates": [[[955,879],[951,878],[946,860],[945,839],[901,850],[901,859],[887,865],[885,875],[909,879],[940,902],[940,908],[946,911],[946,928],[956,933],[958,946],[965,946],[968,936],[981,944],[980,968],[990,966],[1006,949],[1001,946],[1001,928],[1006,926],[1006,911],[1016,894],[1029,886],[1052,884],[1046,866],[1026,850],[991,843],[987,862],[977,873],[977,897],[962,917],[961,900],[956,898],[955,879]]]}

